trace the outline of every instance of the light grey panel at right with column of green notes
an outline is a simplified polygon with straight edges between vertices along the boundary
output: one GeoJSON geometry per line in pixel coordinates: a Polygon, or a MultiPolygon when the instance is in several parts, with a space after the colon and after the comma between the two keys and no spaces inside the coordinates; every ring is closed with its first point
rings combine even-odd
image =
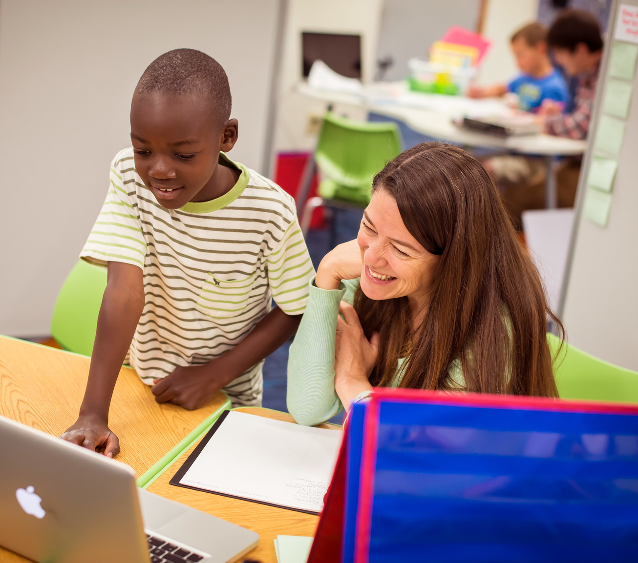
{"type": "MultiPolygon", "coordinates": [[[[638,6],[638,0],[622,3],[638,6]]],[[[619,4],[614,0],[607,43],[614,36],[619,4]]],[[[619,366],[638,370],[638,75],[634,76],[609,223],[599,227],[582,213],[608,58],[609,49],[601,67],[593,128],[581,171],[572,257],[563,287],[563,320],[570,343],[619,366]]]]}

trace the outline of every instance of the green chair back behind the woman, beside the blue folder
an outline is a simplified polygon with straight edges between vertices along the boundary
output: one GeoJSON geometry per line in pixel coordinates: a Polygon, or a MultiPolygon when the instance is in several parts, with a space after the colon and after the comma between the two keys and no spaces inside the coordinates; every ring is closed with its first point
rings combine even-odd
{"type": "MultiPolygon", "coordinates": [[[[547,334],[553,356],[560,339],[547,334]]],[[[638,373],[614,366],[563,343],[554,360],[554,378],[561,399],[638,403],[638,373]]]]}

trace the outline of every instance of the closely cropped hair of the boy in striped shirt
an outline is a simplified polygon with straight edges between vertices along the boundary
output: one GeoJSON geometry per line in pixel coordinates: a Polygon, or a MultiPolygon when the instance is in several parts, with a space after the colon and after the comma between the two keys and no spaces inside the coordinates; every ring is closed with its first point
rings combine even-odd
{"type": "Polygon", "coordinates": [[[175,49],[159,55],[147,66],[135,91],[204,95],[210,98],[212,115],[220,126],[230,118],[228,76],[219,62],[196,49],[175,49]]]}

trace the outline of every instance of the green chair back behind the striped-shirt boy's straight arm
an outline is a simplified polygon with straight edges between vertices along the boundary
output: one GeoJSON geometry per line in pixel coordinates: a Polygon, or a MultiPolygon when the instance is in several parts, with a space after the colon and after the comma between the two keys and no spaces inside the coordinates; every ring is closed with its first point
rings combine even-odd
{"type": "Polygon", "coordinates": [[[57,343],[70,352],[90,356],[98,325],[98,313],[107,269],[78,260],[57,294],[51,319],[51,334],[57,343]]]}

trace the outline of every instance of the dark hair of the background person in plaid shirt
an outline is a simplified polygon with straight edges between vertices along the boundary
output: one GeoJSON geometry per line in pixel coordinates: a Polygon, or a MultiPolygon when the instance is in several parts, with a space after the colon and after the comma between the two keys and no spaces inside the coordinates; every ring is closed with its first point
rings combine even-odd
{"type": "Polygon", "coordinates": [[[547,45],[573,53],[579,43],[587,45],[590,53],[600,51],[603,45],[600,24],[588,11],[564,11],[549,28],[547,45]]]}

